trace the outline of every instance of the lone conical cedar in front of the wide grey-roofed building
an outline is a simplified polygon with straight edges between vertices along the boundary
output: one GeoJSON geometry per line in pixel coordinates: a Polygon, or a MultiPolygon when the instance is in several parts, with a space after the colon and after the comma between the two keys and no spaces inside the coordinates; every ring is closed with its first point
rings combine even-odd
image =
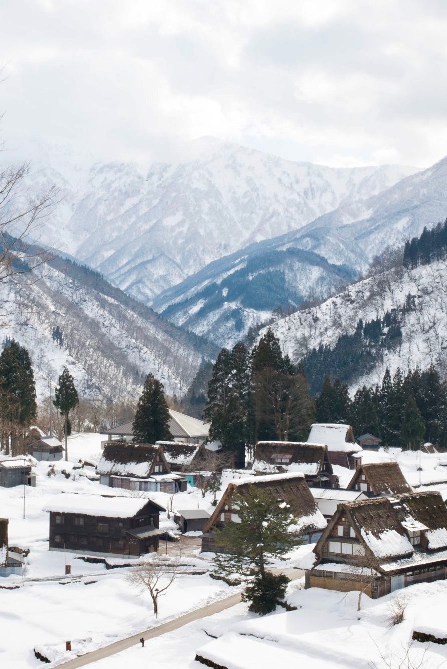
{"type": "Polygon", "coordinates": [[[160,440],[172,439],[169,421],[170,413],[164,396],[163,383],[149,373],[133,421],[134,442],[155,444],[160,440]]]}

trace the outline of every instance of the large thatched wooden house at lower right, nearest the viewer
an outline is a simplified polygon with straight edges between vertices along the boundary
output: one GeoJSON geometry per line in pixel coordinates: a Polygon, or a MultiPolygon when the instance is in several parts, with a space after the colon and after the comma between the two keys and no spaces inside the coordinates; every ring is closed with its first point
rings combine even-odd
{"type": "Polygon", "coordinates": [[[382,597],[447,577],[447,508],[439,492],[339,504],[314,548],[306,587],[382,597]]]}

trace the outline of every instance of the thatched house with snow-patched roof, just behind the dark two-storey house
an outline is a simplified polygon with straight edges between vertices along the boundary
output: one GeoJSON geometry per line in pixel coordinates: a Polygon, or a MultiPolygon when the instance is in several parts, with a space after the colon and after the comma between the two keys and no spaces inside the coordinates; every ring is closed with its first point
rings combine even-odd
{"type": "Polygon", "coordinates": [[[173,474],[162,446],[107,442],[97,466],[99,482],[111,488],[168,492],[186,490],[186,480],[173,474]]]}

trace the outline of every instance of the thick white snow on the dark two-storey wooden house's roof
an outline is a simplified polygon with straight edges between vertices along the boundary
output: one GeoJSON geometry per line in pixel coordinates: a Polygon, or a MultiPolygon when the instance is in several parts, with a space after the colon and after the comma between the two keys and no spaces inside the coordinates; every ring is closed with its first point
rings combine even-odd
{"type": "MultiPolygon", "coordinates": [[[[107,518],[132,518],[147,502],[159,506],[150,497],[109,497],[62,492],[50,499],[42,511],[80,513],[86,516],[107,516],[107,518]]],[[[159,508],[162,507],[159,506],[159,508]]]]}

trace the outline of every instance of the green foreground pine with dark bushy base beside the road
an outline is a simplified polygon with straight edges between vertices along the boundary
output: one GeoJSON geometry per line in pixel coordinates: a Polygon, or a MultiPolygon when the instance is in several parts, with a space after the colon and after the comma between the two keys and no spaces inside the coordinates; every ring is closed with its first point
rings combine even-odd
{"type": "Polygon", "coordinates": [[[218,573],[253,577],[243,594],[251,601],[250,611],[269,613],[282,599],[289,579],[277,579],[268,571],[271,559],[285,559],[288,550],[297,545],[289,532],[297,516],[287,504],[279,504],[270,492],[253,486],[248,494],[235,492],[231,502],[240,522],[227,520],[216,529],[216,544],[223,551],[216,553],[214,564],[218,573]]]}

